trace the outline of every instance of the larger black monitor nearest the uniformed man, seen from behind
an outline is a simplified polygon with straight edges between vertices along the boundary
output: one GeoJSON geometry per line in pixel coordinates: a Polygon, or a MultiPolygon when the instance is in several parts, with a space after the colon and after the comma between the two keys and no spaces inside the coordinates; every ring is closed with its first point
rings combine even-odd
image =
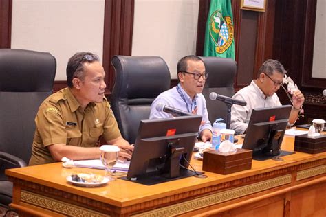
{"type": "Polygon", "coordinates": [[[187,161],[201,122],[201,115],[141,120],[128,174],[122,179],[153,185],[195,175],[187,161]]]}

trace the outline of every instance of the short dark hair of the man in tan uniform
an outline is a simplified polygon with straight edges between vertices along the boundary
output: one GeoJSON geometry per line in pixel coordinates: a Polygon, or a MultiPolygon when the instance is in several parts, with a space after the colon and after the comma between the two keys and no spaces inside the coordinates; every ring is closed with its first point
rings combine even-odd
{"type": "Polygon", "coordinates": [[[78,52],[74,54],[68,60],[67,64],[67,84],[68,87],[73,87],[72,79],[80,78],[83,80],[84,78],[84,62],[99,62],[100,58],[96,54],[92,54],[91,52],[78,52]],[[87,57],[87,58],[86,58],[87,57]]]}

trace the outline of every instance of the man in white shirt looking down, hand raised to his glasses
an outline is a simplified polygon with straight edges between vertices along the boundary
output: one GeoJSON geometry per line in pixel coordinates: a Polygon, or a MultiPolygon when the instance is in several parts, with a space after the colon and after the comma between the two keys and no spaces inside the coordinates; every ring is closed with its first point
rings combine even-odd
{"type": "MultiPolygon", "coordinates": [[[[251,84],[238,91],[233,98],[247,102],[246,106],[233,105],[231,109],[230,128],[237,134],[243,134],[249,123],[252,109],[281,106],[279,97],[276,95],[283,85],[285,71],[281,62],[277,60],[266,60],[261,65],[258,78],[252,80],[251,84]]],[[[292,111],[289,123],[294,124],[301,110],[305,98],[301,91],[292,94],[292,111]]]]}

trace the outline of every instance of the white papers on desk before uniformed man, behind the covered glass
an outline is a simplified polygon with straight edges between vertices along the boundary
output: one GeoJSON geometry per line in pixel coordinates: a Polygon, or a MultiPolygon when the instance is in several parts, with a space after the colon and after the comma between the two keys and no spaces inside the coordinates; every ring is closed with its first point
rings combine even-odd
{"type": "MultiPolygon", "coordinates": [[[[93,168],[105,170],[105,166],[102,164],[100,159],[74,161],[74,165],[80,168],[93,168]]],[[[118,161],[116,165],[113,166],[112,170],[128,171],[129,165],[130,161],[118,161]]]]}

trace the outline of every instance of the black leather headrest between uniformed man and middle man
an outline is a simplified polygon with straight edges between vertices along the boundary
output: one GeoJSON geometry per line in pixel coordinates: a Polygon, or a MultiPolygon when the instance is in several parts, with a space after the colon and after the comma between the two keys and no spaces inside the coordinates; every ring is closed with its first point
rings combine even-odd
{"type": "Polygon", "coordinates": [[[116,70],[113,96],[118,98],[156,98],[170,87],[170,71],[159,56],[113,56],[116,70]]]}

